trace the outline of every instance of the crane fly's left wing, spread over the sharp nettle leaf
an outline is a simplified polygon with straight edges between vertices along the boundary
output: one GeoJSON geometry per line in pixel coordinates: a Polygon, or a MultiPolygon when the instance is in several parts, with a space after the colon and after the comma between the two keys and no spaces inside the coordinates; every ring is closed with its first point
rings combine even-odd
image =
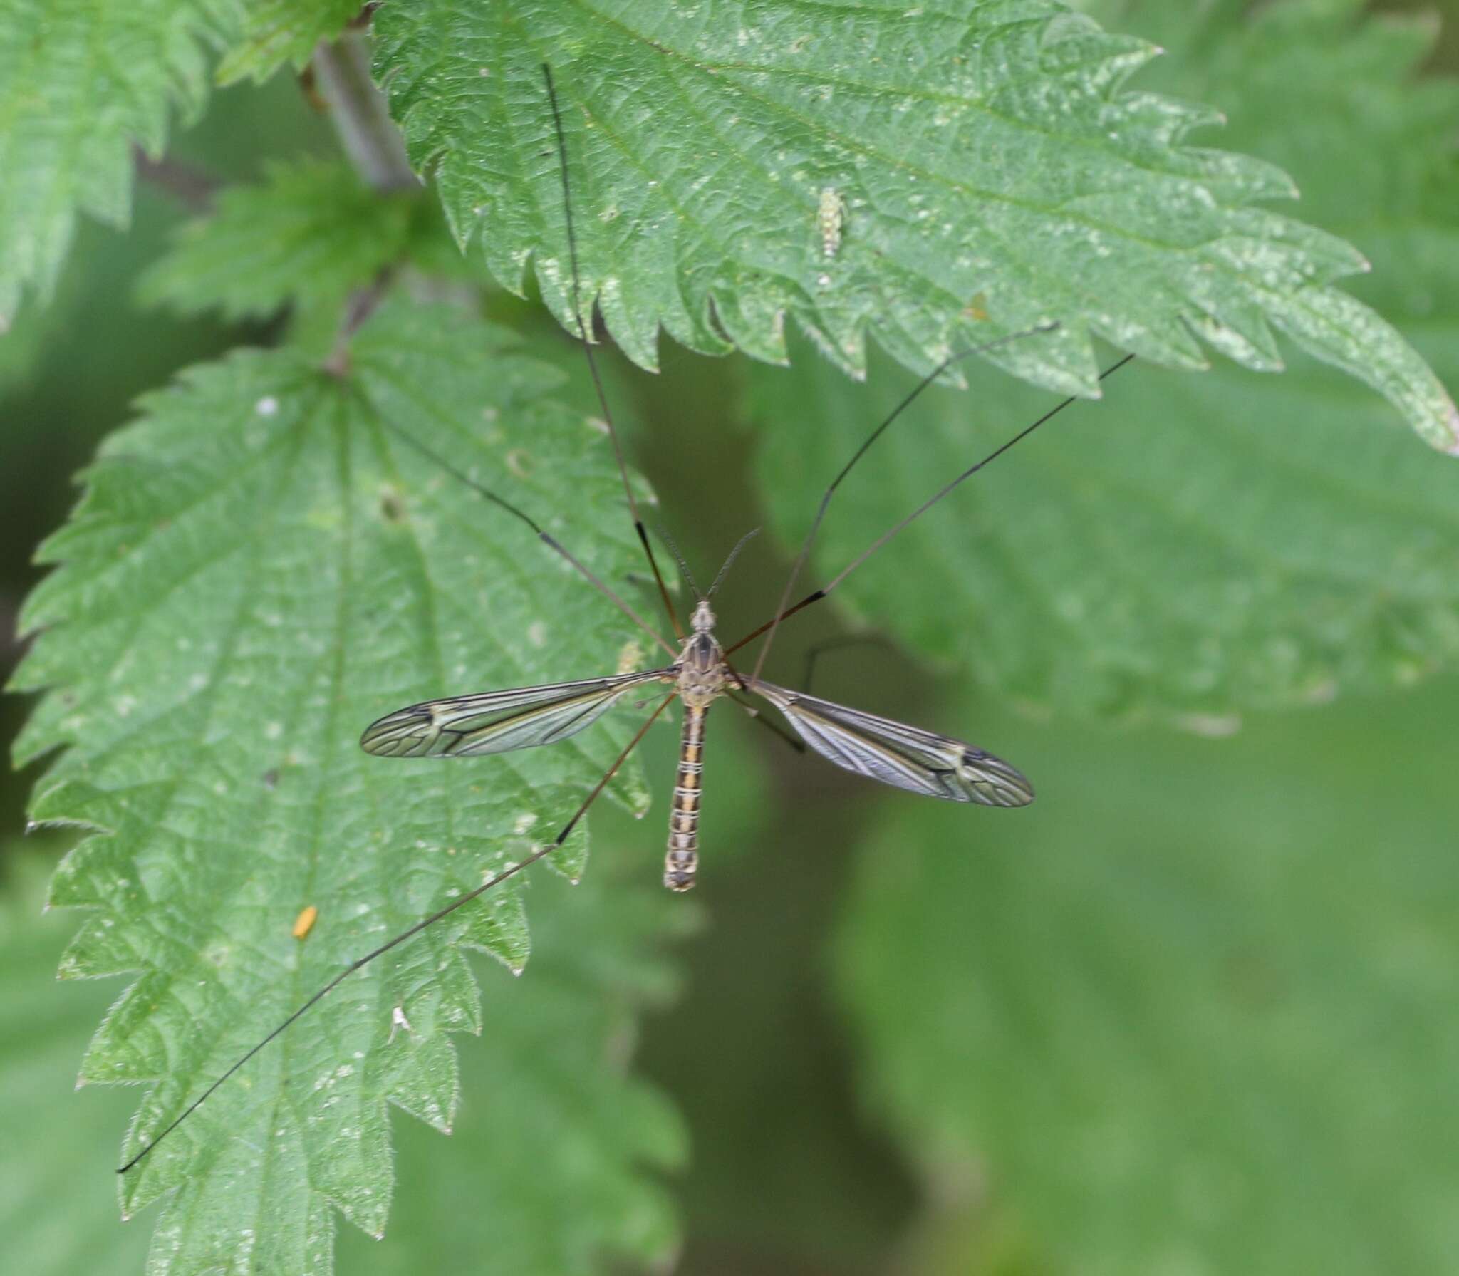
{"type": "Polygon", "coordinates": [[[427,700],[372,722],[360,736],[360,748],[384,758],[460,758],[556,744],[591,726],[626,691],[671,678],[673,672],[646,669],[616,678],[427,700]]]}

